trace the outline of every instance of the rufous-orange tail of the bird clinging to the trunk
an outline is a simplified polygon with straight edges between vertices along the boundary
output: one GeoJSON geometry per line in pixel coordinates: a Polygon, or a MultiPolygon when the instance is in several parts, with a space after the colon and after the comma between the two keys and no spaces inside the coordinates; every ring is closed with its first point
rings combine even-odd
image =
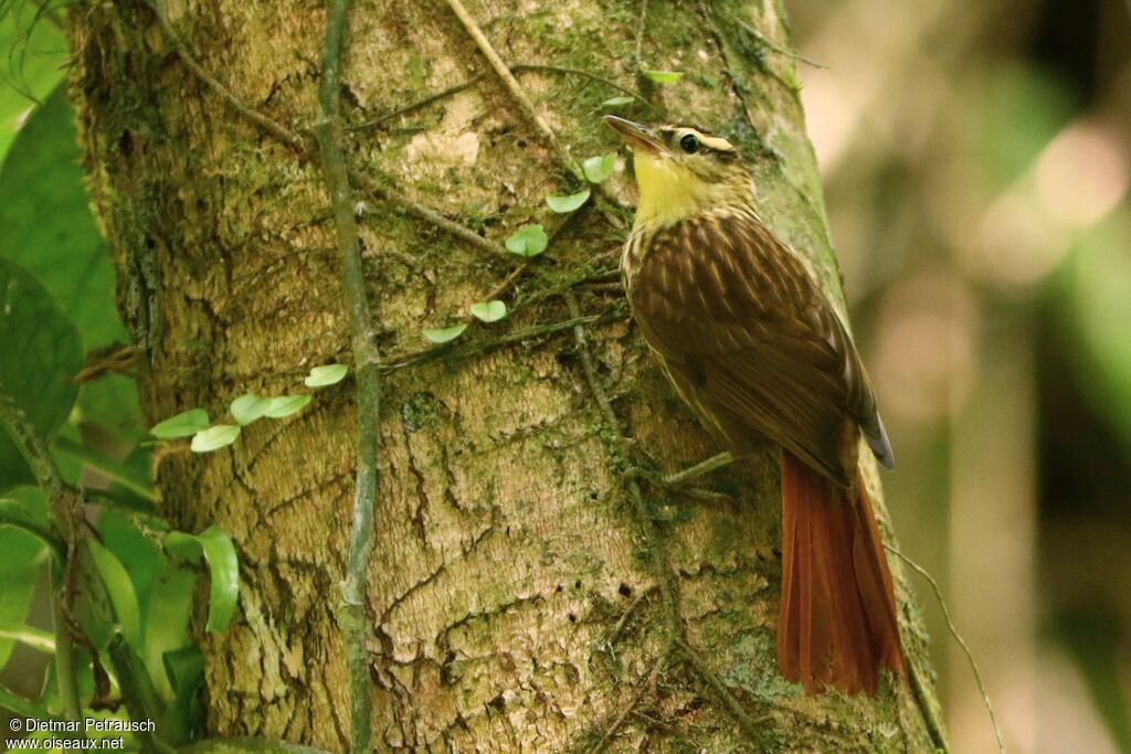
{"type": "Polygon", "coordinates": [[[809,694],[874,696],[880,666],[906,676],[896,596],[864,480],[846,489],[782,451],[778,667],[809,694]]]}

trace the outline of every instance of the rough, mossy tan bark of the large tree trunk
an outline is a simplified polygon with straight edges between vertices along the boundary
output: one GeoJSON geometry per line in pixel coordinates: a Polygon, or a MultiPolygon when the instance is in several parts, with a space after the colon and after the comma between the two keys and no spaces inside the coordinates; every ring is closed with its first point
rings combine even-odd
{"type": "MultiPolygon", "coordinates": [[[[321,3],[167,7],[204,67],[239,98],[295,129],[313,121],[321,3]]],[[[647,86],[633,77],[642,33],[642,68],[687,73],[655,103],[673,119],[737,136],[770,225],[839,291],[793,62],[735,23],[787,45],[780,7],[653,2],[642,27],[639,2],[468,8],[512,66],[584,69],[627,86],[647,86]]],[[[141,2],[80,3],[71,18],[71,90],[93,205],[114,250],[149,418],[198,405],[219,416],[235,396],[294,391],[309,366],[348,361],[317,165],[202,86],[141,2]]],[[[439,1],[359,2],[347,44],[344,114],[353,122],[489,70],[439,1]]],[[[595,112],[618,92],[560,71],[520,78],[575,156],[614,148],[595,112]]],[[[355,172],[383,173],[396,192],[500,243],[524,223],[556,223],[544,197],[580,188],[492,75],[351,136],[347,154],[355,172]]],[[[631,202],[623,172],[610,187],[631,202]]],[[[422,328],[465,315],[515,263],[386,205],[369,206],[361,223],[385,354],[426,346],[422,328]]],[[[568,319],[561,292],[613,269],[622,239],[590,205],[504,296],[511,317],[464,335],[483,348],[383,378],[385,409],[372,417],[382,436],[369,605],[375,740],[413,751],[585,751],[632,707],[614,751],[931,751],[930,688],[914,694],[888,677],[874,700],[810,699],[777,675],[771,449],[710,478],[729,502],[646,485],[663,539],[649,541],[622,491],[625,467],[650,458],[675,470],[716,449],[633,329],[621,319],[588,337],[640,459],[620,457],[569,330],[486,347],[494,335],[568,319]],[[742,736],[682,655],[649,685],[667,636],[656,547],[675,574],[689,642],[761,720],[758,740],[742,736]]],[[[584,313],[622,311],[613,286],[572,289],[584,313]]],[[[202,636],[213,734],[347,745],[334,612],[354,426],[345,384],[292,419],[251,425],[232,449],[162,457],[167,514],[190,530],[224,526],[242,557],[242,617],[202,636]]],[[[918,610],[893,566],[909,659],[930,677],[918,610]]]]}

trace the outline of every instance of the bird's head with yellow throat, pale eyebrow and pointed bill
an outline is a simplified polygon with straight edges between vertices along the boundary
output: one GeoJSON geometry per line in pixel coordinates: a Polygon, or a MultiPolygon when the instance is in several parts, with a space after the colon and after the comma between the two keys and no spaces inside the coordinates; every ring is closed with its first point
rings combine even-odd
{"type": "Polygon", "coordinates": [[[723,137],[692,125],[641,125],[605,115],[636,163],[636,225],[667,226],[713,209],[751,202],[750,171],[723,137]]]}

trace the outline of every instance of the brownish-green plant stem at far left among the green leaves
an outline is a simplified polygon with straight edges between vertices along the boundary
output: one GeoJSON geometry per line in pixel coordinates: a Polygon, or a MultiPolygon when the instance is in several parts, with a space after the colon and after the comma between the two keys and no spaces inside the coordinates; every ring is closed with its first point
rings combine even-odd
{"type": "MultiPolygon", "coordinates": [[[[67,619],[68,569],[75,563],[75,545],[79,531],[79,500],[67,485],[51,451],[40,437],[24,409],[15,399],[0,392],[0,425],[7,430],[20,456],[27,461],[35,475],[36,482],[48,497],[48,517],[55,537],[66,543],[67,560],[62,573],[55,573],[54,589],[51,590],[52,623],[55,634],[55,671],[59,681],[59,695],[62,697],[63,713],[68,720],[78,720],[81,705],[78,697],[78,684],[75,678],[74,639],[67,619]]],[[[58,563],[55,567],[58,567],[58,563]]]]}

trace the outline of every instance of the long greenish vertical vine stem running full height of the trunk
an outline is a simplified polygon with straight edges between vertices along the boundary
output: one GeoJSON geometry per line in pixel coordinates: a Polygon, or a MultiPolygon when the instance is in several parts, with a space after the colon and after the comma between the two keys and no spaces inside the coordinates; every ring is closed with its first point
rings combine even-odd
{"type": "Polygon", "coordinates": [[[373,737],[373,683],[369,658],[369,648],[373,642],[365,607],[369,604],[366,586],[369,561],[373,551],[373,505],[378,489],[381,376],[377,344],[372,337],[373,318],[362,270],[353,191],[342,149],[338,99],[348,11],[349,0],[331,0],[327,12],[322,72],[318,86],[320,113],[316,133],[321,147],[322,173],[330,193],[338,251],[342,254],[342,285],[349,311],[349,335],[357,385],[357,478],[338,623],[349,673],[351,751],[354,754],[366,754],[372,751],[373,737]]]}

